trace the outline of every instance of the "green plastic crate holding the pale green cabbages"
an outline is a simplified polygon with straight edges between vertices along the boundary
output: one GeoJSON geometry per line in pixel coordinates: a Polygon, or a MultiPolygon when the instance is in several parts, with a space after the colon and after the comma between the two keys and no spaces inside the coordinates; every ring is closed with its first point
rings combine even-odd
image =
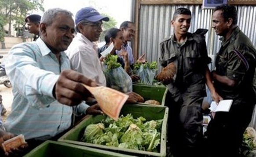
{"type": "Polygon", "coordinates": [[[124,153],[128,155],[135,155],[139,157],[165,157],[166,156],[166,131],[167,131],[167,120],[168,120],[168,107],[166,106],[150,106],[150,105],[139,105],[139,104],[127,104],[124,105],[120,115],[127,115],[131,113],[134,118],[137,117],[145,117],[147,121],[149,120],[158,120],[163,119],[162,129],[161,129],[161,142],[160,142],[160,152],[148,152],[142,150],[132,150],[132,149],[124,149],[113,146],[103,146],[97,144],[91,144],[86,142],[80,142],[82,135],[84,134],[84,129],[89,124],[99,123],[102,119],[105,119],[106,116],[98,115],[98,116],[88,116],[79,124],[77,124],[74,128],[68,131],[65,135],[63,135],[59,142],[67,142],[71,144],[81,145],[81,146],[90,146],[94,148],[99,148],[103,150],[110,150],[117,153],[124,153]]]}

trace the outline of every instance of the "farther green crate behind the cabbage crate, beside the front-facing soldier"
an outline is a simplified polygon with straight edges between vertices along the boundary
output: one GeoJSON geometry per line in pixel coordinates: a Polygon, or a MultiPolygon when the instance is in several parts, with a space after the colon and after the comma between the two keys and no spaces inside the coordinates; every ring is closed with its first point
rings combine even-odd
{"type": "MultiPolygon", "coordinates": [[[[156,100],[161,103],[161,106],[165,106],[165,99],[168,89],[164,85],[148,85],[132,83],[132,91],[138,93],[146,100],[156,100]]],[[[139,103],[145,104],[145,103],[139,103]]]]}

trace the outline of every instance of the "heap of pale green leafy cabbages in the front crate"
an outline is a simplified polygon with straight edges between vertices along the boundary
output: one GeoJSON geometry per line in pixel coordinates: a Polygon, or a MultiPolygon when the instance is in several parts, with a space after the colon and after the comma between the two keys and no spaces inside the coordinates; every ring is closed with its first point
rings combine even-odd
{"type": "Polygon", "coordinates": [[[134,150],[157,152],[160,147],[160,132],[163,120],[150,120],[131,114],[121,116],[117,121],[110,117],[98,124],[85,128],[83,142],[115,146],[134,150]]]}

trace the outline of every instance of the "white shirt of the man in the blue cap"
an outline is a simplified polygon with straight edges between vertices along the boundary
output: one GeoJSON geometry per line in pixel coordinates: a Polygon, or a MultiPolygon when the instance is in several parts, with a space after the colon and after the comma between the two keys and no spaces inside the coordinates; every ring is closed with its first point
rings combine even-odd
{"type": "Polygon", "coordinates": [[[77,33],[65,52],[69,57],[71,69],[95,80],[99,85],[106,86],[106,78],[98,58],[97,47],[94,43],[81,33],[77,33]]]}

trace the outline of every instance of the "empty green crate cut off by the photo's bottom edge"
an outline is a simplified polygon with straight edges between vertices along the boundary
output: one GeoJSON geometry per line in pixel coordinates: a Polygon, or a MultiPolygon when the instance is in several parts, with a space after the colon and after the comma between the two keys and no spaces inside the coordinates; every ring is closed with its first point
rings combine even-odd
{"type": "Polygon", "coordinates": [[[134,157],[120,153],[77,146],[69,143],[45,141],[24,157],[134,157]]]}

